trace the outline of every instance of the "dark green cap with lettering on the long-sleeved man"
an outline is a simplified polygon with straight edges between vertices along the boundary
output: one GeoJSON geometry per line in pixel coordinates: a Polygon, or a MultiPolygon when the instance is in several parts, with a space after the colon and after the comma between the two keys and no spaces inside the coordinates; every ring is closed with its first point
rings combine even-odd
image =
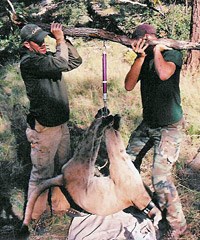
{"type": "Polygon", "coordinates": [[[20,32],[22,41],[42,42],[49,33],[35,24],[25,25],[20,32]]]}

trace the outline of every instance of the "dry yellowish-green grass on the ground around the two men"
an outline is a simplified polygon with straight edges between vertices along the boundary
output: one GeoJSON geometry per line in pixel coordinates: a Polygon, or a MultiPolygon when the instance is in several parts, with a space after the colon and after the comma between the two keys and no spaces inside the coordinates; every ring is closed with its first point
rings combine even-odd
{"type": "MultiPolygon", "coordinates": [[[[83,64],[64,77],[69,92],[71,121],[79,127],[86,128],[99,108],[103,107],[102,99],[102,51],[103,43],[98,40],[84,42],[76,40],[78,51],[83,57],[83,64]]],[[[124,89],[124,78],[130,68],[132,57],[127,55],[127,48],[117,43],[106,43],[107,51],[107,83],[108,108],[111,113],[122,116],[121,133],[127,144],[131,131],[141,121],[141,99],[139,85],[132,92],[124,89]]],[[[187,119],[186,139],[182,146],[179,162],[174,177],[189,224],[189,232],[182,240],[198,240],[200,238],[200,193],[191,182],[197,182],[195,174],[188,174],[187,161],[195,154],[199,146],[199,92],[200,82],[193,79],[189,73],[181,76],[182,105],[187,119]]],[[[0,161],[16,161],[15,137],[11,129],[12,110],[15,104],[28,109],[25,87],[20,77],[18,65],[8,66],[0,73],[0,161]]],[[[26,110],[25,110],[26,111],[26,110]]],[[[150,183],[152,153],[149,153],[143,163],[143,176],[150,183]]],[[[198,180],[199,181],[199,180],[198,180]]],[[[12,203],[14,211],[22,217],[23,193],[13,190],[12,203]]],[[[48,234],[37,237],[34,232],[30,239],[65,239],[69,218],[55,218],[49,227],[48,234]]]]}

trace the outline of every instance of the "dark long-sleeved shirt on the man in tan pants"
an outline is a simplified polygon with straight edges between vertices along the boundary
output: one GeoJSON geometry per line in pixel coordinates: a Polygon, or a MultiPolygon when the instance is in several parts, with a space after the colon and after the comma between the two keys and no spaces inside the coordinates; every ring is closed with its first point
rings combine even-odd
{"type": "Polygon", "coordinates": [[[23,49],[20,70],[30,101],[30,114],[47,127],[69,119],[69,103],[62,72],[77,68],[82,59],[70,43],[57,46],[55,54],[23,49]]]}

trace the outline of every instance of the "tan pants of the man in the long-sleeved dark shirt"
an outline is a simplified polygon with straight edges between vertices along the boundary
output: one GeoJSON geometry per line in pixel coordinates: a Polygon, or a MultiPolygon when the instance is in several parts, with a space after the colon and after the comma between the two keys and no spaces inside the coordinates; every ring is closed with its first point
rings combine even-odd
{"type": "MultiPolygon", "coordinates": [[[[45,127],[36,121],[35,129],[26,130],[31,143],[32,170],[29,180],[28,198],[37,184],[60,173],[61,167],[70,158],[70,134],[67,123],[56,127],[45,127]]],[[[47,208],[48,190],[37,199],[32,219],[39,219],[47,208]]],[[[53,188],[51,197],[52,209],[61,214],[69,208],[65,196],[58,187],[53,188]]]]}

